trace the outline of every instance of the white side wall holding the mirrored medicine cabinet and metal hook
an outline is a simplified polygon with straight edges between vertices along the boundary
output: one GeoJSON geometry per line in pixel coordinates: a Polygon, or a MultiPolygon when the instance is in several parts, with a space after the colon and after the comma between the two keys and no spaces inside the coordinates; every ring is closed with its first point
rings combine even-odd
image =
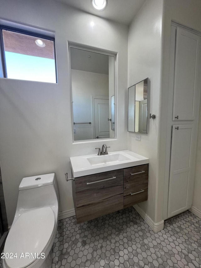
{"type": "Polygon", "coordinates": [[[128,133],[128,150],[149,157],[148,201],[140,207],[154,222],[157,218],[156,200],[159,180],[159,120],[160,120],[160,67],[162,1],[147,0],[132,21],[128,33],[128,87],[149,77],[150,112],[156,119],[149,120],[148,134],[135,140],[135,133],[128,133]]]}

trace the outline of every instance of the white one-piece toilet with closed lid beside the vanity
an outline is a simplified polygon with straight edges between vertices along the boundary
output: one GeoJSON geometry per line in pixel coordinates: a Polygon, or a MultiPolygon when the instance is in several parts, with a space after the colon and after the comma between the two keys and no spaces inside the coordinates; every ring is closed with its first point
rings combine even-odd
{"type": "Polygon", "coordinates": [[[54,173],[23,178],[3,268],[51,268],[59,193],[54,173]]]}

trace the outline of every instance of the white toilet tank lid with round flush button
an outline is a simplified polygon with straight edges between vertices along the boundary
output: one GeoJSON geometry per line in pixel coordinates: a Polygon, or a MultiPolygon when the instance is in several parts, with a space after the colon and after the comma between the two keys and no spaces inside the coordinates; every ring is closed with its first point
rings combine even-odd
{"type": "Polygon", "coordinates": [[[25,177],[19,184],[19,191],[51,185],[55,181],[55,173],[25,177]]]}

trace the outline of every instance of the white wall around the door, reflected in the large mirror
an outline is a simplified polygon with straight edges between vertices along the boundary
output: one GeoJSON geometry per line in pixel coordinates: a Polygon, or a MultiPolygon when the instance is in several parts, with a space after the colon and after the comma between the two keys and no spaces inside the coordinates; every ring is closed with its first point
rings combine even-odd
{"type": "Polygon", "coordinates": [[[91,96],[108,96],[109,98],[108,74],[97,74],[72,69],[71,77],[73,91],[73,120],[75,123],[92,123],[75,124],[74,129],[76,133],[74,134],[74,140],[94,139],[91,96]]]}

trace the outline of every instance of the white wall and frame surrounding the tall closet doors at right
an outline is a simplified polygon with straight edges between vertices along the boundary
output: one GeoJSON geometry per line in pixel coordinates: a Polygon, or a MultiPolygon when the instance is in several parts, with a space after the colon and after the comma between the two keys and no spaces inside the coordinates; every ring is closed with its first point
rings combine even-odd
{"type": "MultiPolygon", "coordinates": [[[[169,161],[166,151],[166,139],[171,135],[171,129],[167,129],[168,122],[168,77],[170,66],[170,34],[171,34],[171,21],[180,25],[186,26],[195,31],[201,32],[201,2],[199,0],[170,0],[164,1],[164,18],[163,18],[163,49],[162,49],[162,85],[161,85],[161,123],[160,123],[160,170],[159,170],[159,191],[158,191],[158,211],[164,211],[164,218],[167,209],[167,194],[169,183],[169,171],[166,168],[169,161]],[[164,206],[164,208],[162,207],[164,206]]],[[[199,125],[201,124],[201,115],[199,116],[199,125]]],[[[196,129],[195,129],[196,130],[196,129]]],[[[198,132],[198,146],[197,146],[197,161],[196,161],[196,174],[194,184],[194,199],[193,206],[201,210],[201,131],[198,132]]],[[[194,152],[195,153],[195,152],[194,152]]],[[[193,178],[192,178],[193,179],[193,178]]]]}

